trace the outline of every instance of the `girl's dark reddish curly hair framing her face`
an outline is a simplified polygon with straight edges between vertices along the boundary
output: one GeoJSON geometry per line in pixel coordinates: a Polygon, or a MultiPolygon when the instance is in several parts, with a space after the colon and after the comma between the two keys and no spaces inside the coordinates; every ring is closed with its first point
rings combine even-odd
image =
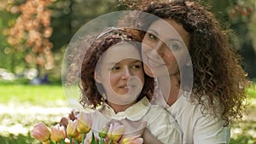
{"type": "MultiPolygon", "coordinates": [[[[106,101],[102,97],[102,93],[97,89],[98,86],[102,86],[101,84],[96,84],[94,79],[96,64],[98,60],[100,60],[102,54],[111,46],[117,43],[122,42],[142,42],[142,37],[138,37],[136,30],[128,30],[128,29],[116,29],[114,32],[105,32],[102,35],[90,38],[92,43],[84,42],[84,48],[80,49],[83,54],[83,50],[87,47],[87,51],[83,56],[78,56],[78,60],[82,60],[81,68],[80,68],[80,80],[81,80],[81,98],[80,103],[84,108],[93,108],[99,107],[102,105],[104,101],[106,101]],[[86,44],[87,43],[87,44],[86,44]],[[88,101],[90,103],[88,103],[88,101]]],[[[88,40],[88,39],[87,39],[88,40]]],[[[135,43],[132,43],[135,44],[135,43]]],[[[140,46],[136,45],[138,51],[141,51],[140,46]]],[[[76,60],[75,60],[76,61],[76,60]]],[[[147,96],[150,100],[154,93],[154,79],[149,78],[146,74],[144,75],[145,83],[142,89],[141,94],[138,96],[137,101],[141,100],[144,96],[147,96]]]]}

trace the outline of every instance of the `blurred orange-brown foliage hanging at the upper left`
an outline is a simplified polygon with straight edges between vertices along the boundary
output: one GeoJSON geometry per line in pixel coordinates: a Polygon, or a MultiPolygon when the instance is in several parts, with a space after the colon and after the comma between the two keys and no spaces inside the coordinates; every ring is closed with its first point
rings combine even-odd
{"type": "MultiPolygon", "coordinates": [[[[53,30],[50,27],[51,12],[46,7],[50,0],[27,0],[20,5],[13,5],[8,10],[19,14],[13,25],[3,32],[12,46],[11,54],[24,54],[29,65],[52,69],[54,67],[52,43],[49,42],[53,30]]],[[[13,3],[9,3],[12,5],[13,3]]]]}

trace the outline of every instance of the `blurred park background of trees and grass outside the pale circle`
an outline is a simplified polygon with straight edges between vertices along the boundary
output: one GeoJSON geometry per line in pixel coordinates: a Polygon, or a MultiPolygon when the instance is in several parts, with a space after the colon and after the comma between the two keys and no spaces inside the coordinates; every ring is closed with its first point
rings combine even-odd
{"type": "MultiPolygon", "coordinates": [[[[86,22],[143,0],[0,1],[0,144],[39,143],[39,121],[52,125],[70,108],[61,87],[67,44],[86,22]]],[[[244,59],[254,88],[246,115],[232,123],[232,144],[256,144],[256,0],[205,0],[244,59]]]]}

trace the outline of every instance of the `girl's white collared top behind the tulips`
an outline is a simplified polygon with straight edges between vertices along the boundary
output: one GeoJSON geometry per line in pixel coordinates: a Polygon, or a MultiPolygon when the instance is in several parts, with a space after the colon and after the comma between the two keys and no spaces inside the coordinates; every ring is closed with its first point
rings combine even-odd
{"type": "Polygon", "coordinates": [[[175,120],[165,109],[151,105],[146,97],[138,101],[133,106],[127,108],[125,112],[115,113],[107,103],[93,112],[94,131],[99,131],[111,119],[127,118],[131,121],[143,120],[147,122],[147,128],[158,140],[165,144],[181,144],[181,132],[175,120]]]}

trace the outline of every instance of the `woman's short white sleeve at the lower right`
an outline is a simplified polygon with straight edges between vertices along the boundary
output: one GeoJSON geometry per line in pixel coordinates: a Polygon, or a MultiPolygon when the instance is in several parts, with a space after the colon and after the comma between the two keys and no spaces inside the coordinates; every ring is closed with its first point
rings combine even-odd
{"type": "Polygon", "coordinates": [[[195,123],[194,144],[225,144],[230,143],[230,124],[224,126],[224,120],[206,114],[195,123]]]}

